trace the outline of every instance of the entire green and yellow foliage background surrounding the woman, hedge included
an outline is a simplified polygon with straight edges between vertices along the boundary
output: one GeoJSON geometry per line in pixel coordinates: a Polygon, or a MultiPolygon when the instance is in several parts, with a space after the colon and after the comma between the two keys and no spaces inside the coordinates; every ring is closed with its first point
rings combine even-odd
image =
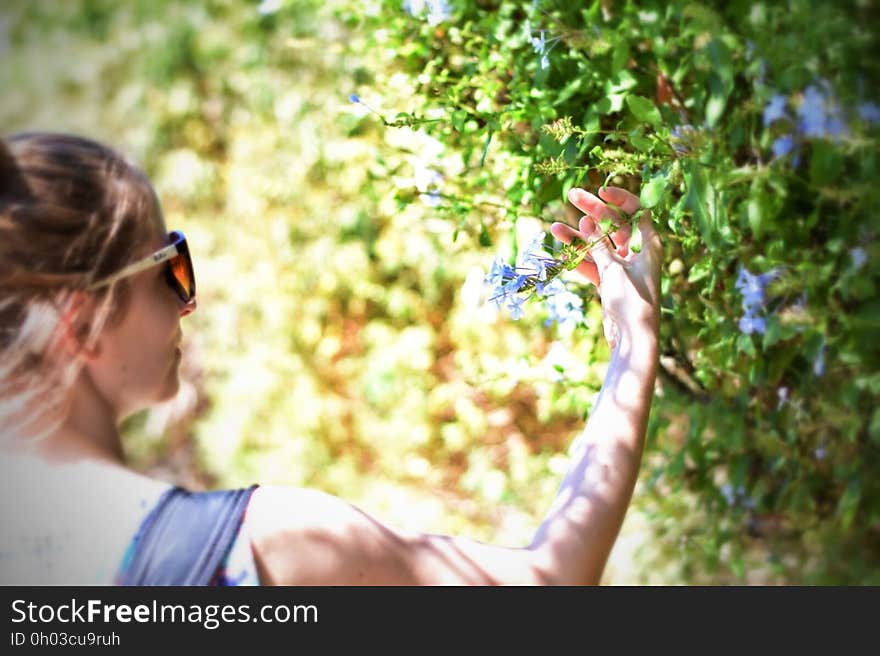
{"type": "Polygon", "coordinates": [[[4,132],[131,154],[192,242],[186,381],[127,426],[137,466],[528,541],[601,384],[601,313],[510,321],[481,270],[608,181],[666,259],[606,580],[880,582],[876,3],[444,5],[3,5],[4,132]],[[774,272],[763,330],[743,268],[774,272]]]}

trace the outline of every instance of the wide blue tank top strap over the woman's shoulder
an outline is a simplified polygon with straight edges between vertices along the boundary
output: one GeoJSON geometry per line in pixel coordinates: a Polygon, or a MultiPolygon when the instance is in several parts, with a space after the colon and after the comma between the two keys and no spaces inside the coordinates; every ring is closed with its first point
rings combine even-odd
{"type": "Polygon", "coordinates": [[[170,488],[129,544],[117,585],[216,585],[256,488],[170,488]]]}

